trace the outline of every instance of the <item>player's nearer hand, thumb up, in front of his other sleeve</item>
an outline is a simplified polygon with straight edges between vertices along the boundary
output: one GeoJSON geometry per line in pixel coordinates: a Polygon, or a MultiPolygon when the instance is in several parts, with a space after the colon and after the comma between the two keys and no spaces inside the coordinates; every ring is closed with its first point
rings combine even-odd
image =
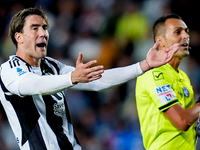
{"type": "Polygon", "coordinates": [[[93,66],[97,63],[96,60],[92,60],[83,64],[83,54],[80,53],[76,61],[76,69],[71,74],[72,83],[78,82],[90,82],[102,77],[104,72],[103,66],[93,66]]]}

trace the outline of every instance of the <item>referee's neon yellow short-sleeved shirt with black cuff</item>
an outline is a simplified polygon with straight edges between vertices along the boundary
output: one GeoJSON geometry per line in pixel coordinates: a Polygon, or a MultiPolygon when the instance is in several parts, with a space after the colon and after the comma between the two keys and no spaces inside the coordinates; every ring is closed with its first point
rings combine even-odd
{"type": "Polygon", "coordinates": [[[137,78],[136,102],[144,147],[147,150],[195,150],[195,129],[177,129],[164,111],[179,103],[194,105],[188,76],[170,64],[154,68],[137,78]]]}

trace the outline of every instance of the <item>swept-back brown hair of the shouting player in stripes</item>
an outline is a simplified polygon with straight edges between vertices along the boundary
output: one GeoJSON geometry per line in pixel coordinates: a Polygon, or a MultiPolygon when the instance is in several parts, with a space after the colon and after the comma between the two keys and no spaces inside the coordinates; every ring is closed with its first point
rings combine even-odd
{"type": "Polygon", "coordinates": [[[24,23],[26,21],[25,19],[26,19],[26,17],[28,17],[30,15],[41,16],[47,23],[47,26],[49,26],[46,14],[40,9],[27,8],[27,9],[24,9],[24,10],[18,12],[17,14],[15,14],[12,17],[10,24],[9,24],[9,35],[16,47],[17,47],[17,41],[15,39],[15,33],[17,33],[17,32],[23,33],[24,23]]]}

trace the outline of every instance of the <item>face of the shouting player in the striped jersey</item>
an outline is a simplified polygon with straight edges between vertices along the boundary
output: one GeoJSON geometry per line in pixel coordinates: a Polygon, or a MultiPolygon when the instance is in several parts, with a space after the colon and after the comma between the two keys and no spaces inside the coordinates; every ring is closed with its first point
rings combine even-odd
{"type": "Polygon", "coordinates": [[[40,59],[47,54],[49,33],[45,20],[39,15],[31,15],[26,18],[22,42],[25,53],[32,58],[40,59]]]}

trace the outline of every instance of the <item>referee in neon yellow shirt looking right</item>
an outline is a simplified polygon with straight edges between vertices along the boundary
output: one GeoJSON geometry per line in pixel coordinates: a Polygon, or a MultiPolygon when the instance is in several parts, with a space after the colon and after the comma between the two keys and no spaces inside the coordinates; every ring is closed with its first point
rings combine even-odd
{"type": "Polygon", "coordinates": [[[159,51],[180,43],[172,60],[139,76],[136,103],[147,150],[195,150],[194,123],[200,103],[194,104],[194,92],[188,76],[179,69],[189,55],[189,29],[180,16],[160,17],[153,26],[159,51]]]}

